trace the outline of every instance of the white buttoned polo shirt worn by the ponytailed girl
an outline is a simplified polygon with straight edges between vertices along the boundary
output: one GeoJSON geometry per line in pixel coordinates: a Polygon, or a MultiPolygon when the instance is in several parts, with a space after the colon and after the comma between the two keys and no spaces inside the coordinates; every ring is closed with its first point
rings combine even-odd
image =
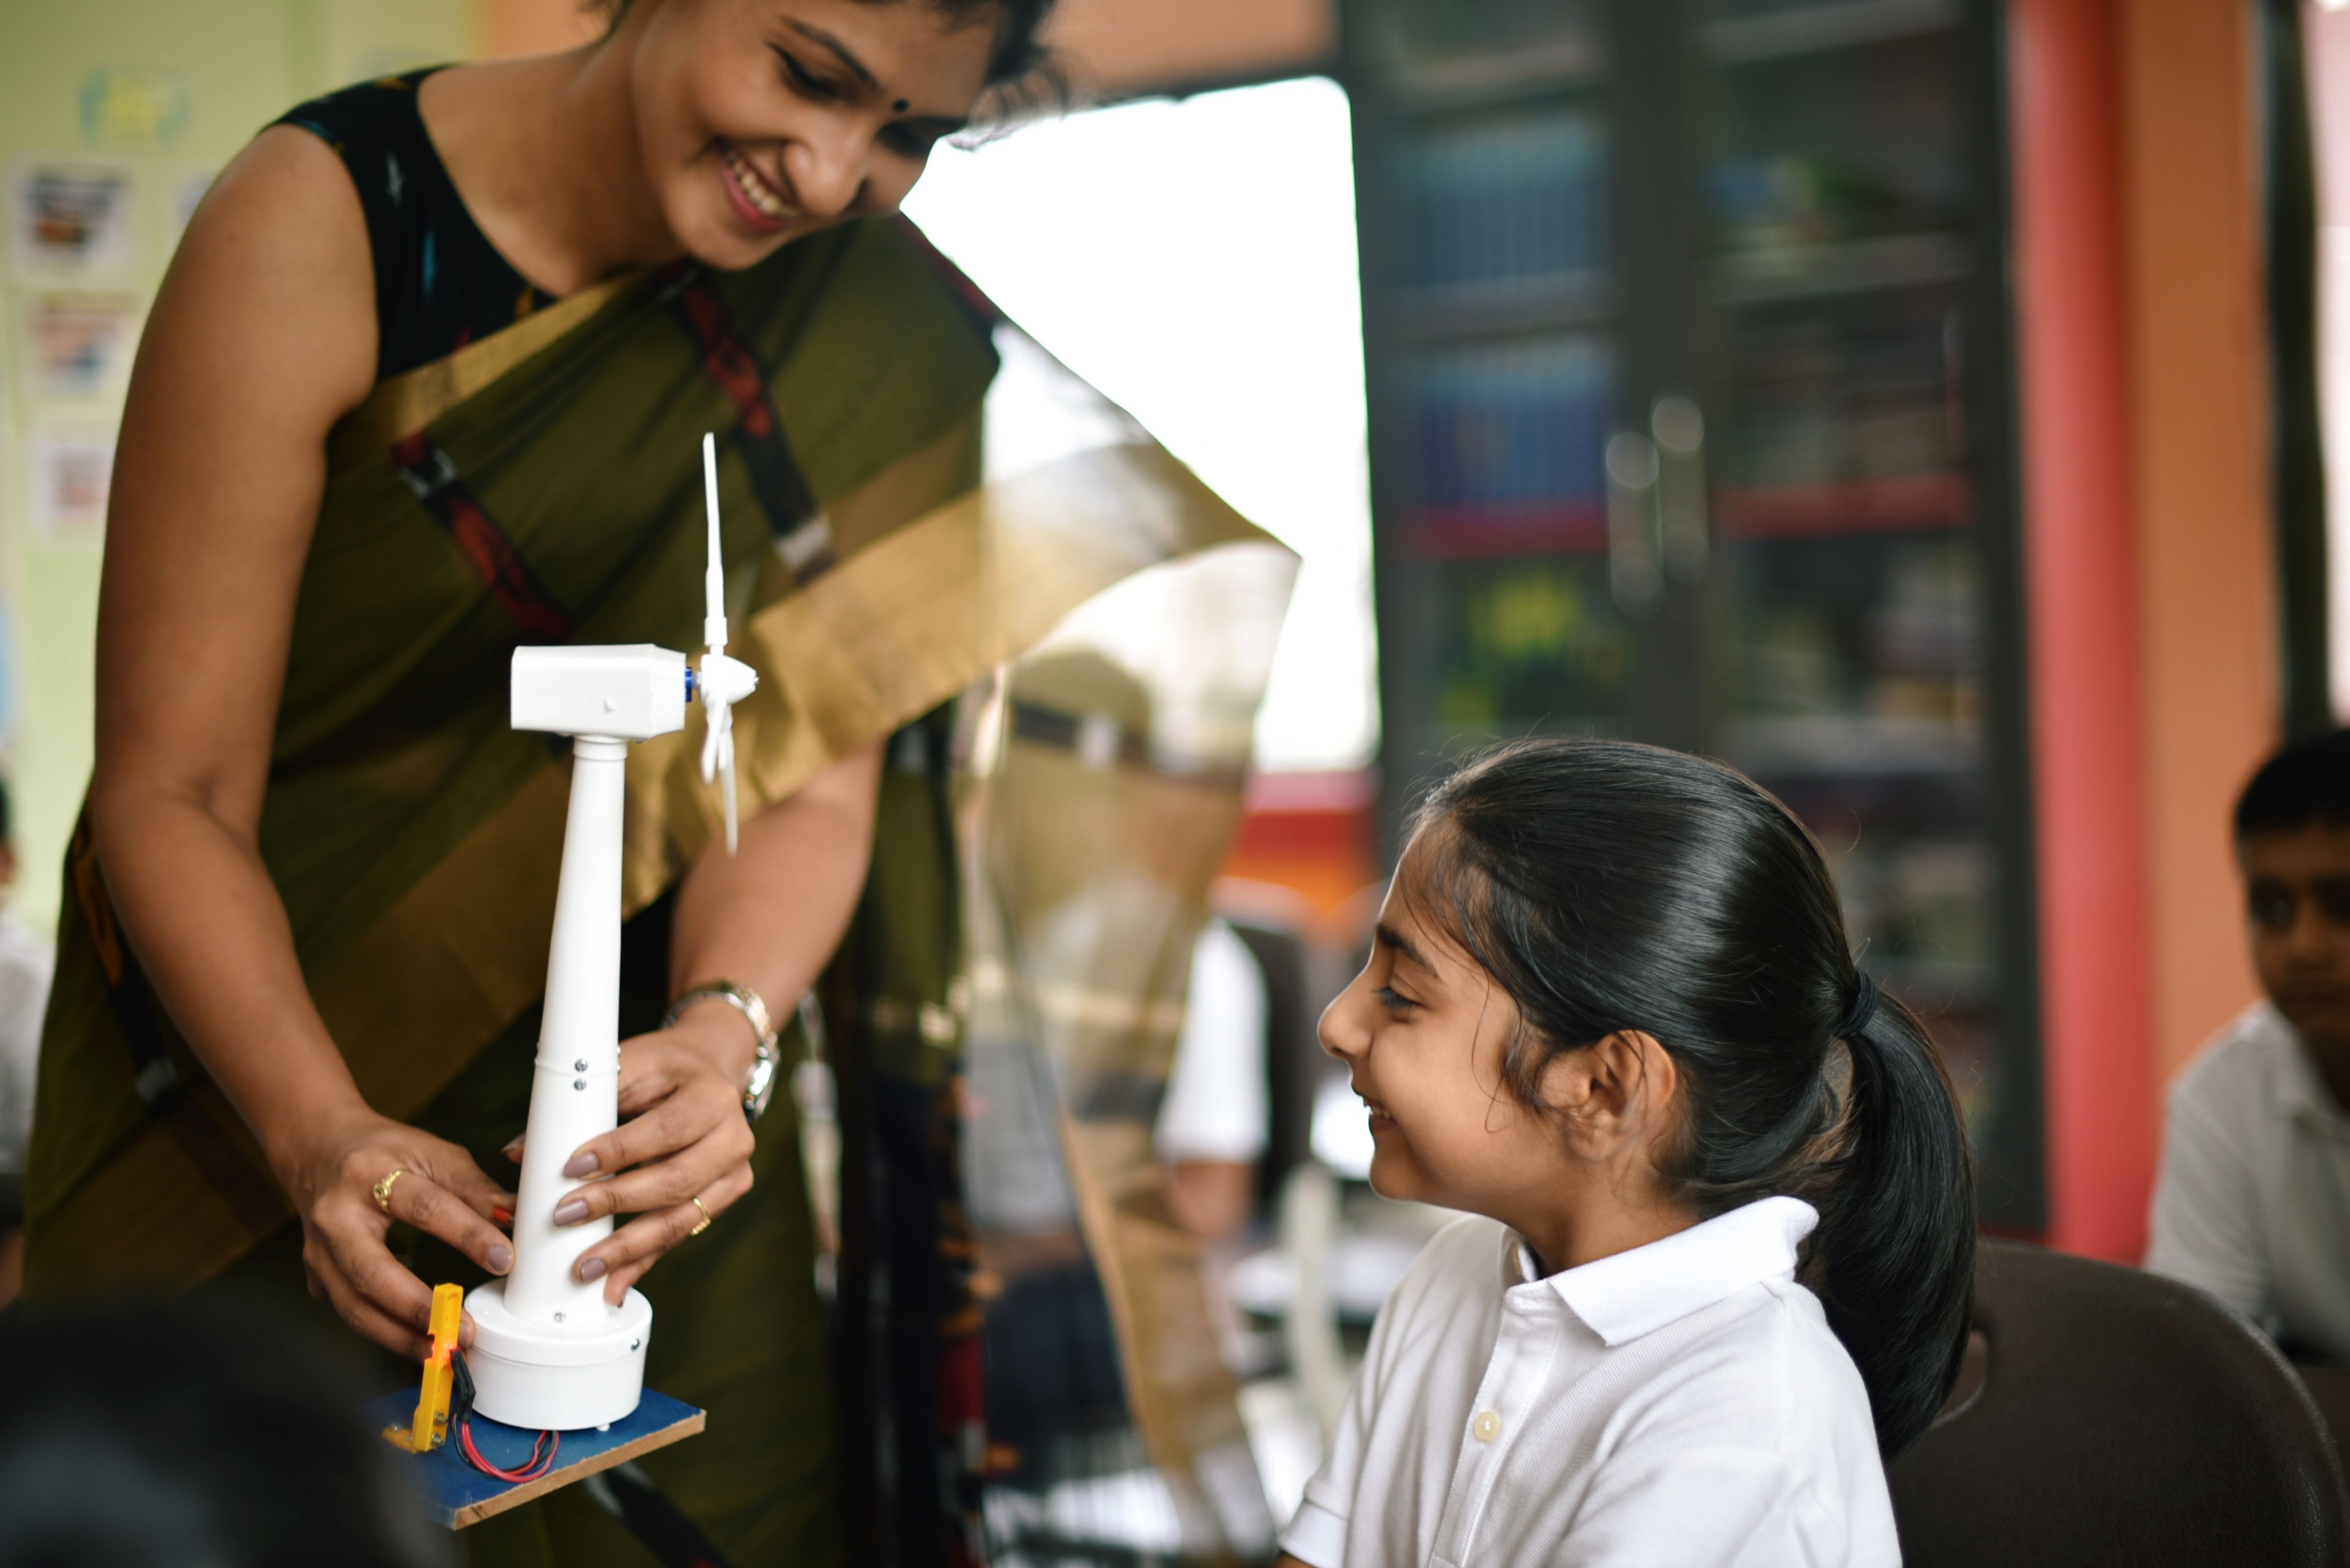
{"type": "Polygon", "coordinates": [[[1549,1279],[1466,1218],[1379,1309],[1281,1549],[1311,1568],[1880,1568],[1868,1392],[1770,1197],[1549,1279]]]}

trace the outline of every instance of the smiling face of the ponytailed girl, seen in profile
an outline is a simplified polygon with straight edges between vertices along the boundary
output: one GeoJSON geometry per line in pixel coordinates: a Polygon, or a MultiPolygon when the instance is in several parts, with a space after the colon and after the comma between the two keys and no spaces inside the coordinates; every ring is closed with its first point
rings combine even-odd
{"type": "MultiPolygon", "coordinates": [[[[1424,837],[1424,835],[1422,835],[1424,837]]],[[[1528,1227],[1574,1182],[1558,1124],[1502,1079],[1518,1006],[1424,922],[1415,839],[1379,905],[1370,964],[1323,1013],[1323,1048],[1347,1063],[1370,1110],[1379,1197],[1485,1213],[1528,1227]]]]}

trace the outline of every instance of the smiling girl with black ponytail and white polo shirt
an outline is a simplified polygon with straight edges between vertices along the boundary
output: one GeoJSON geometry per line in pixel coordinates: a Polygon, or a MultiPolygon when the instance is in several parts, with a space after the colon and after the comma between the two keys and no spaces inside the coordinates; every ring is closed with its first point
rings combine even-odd
{"type": "Polygon", "coordinates": [[[1379,1312],[1283,1561],[1899,1563],[1885,1460],[1967,1338],[1974,1180],[1819,846],[1739,773],[1495,750],[1321,1023],[1372,1187],[1462,1208],[1379,1312]]]}

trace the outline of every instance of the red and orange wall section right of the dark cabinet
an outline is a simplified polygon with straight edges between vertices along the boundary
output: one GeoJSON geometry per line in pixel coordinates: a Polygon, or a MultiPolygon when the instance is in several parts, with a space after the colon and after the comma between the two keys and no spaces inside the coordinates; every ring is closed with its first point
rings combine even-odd
{"type": "Polygon", "coordinates": [[[2254,999],[2277,741],[2251,12],[2009,0],[2049,1241],[2136,1262],[2162,1088],[2254,999]]]}

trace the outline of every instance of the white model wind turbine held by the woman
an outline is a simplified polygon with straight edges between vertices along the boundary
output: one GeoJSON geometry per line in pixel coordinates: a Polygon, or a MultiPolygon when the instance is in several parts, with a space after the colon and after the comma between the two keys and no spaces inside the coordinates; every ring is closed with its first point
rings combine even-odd
{"type": "Polygon", "coordinates": [[[620,806],[630,741],[686,726],[686,701],[707,717],[703,780],[724,771],[726,853],[736,846],[733,705],[759,672],[726,656],[726,578],[719,567],[717,442],[703,437],[710,569],[700,670],[649,642],[630,646],[515,649],[512,726],[571,736],[571,809],[538,1072],[522,1143],[515,1201],[515,1267],[465,1298],[475,1340],[468,1366],[475,1408],[510,1427],[573,1432],[637,1408],[653,1307],[630,1291],[613,1307],[604,1281],[580,1284],[580,1253],[611,1234],[609,1218],[555,1225],[555,1204],[576,1182],[564,1164],[620,1124],[620,806]]]}

